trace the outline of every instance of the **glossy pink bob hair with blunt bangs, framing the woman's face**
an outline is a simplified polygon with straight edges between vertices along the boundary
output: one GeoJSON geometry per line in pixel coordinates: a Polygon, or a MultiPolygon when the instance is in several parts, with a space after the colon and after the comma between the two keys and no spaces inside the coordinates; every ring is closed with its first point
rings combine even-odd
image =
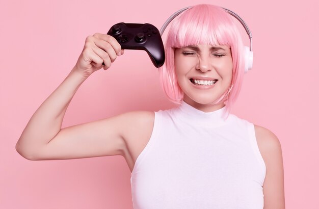
{"type": "Polygon", "coordinates": [[[233,70],[231,84],[212,104],[224,102],[226,115],[240,93],[244,76],[244,45],[235,24],[236,20],[223,8],[214,5],[196,5],[179,14],[171,22],[165,45],[166,60],[159,68],[159,79],[169,100],[180,104],[183,91],[179,87],[174,63],[174,50],[189,45],[227,45],[230,47],[233,70]]]}

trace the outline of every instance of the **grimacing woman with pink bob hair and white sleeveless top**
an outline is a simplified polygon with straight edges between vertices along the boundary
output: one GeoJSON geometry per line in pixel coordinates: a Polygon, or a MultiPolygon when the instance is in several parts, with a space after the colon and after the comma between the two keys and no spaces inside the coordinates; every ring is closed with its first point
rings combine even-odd
{"type": "Polygon", "coordinates": [[[123,53],[109,35],[88,36],[74,68],[26,125],[17,151],[29,160],[123,155],[135,208],[285,207],[279,140],[229,114],[245,63],[240,33],[224,9],[197,5],[172,22],[160,78],[177,108],[61,128],[78,87],[123,53]]]}

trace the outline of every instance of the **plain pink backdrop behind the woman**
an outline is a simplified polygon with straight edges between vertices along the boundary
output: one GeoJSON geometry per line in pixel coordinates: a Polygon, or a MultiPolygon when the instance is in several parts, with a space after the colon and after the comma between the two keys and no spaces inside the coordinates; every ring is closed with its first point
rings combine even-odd
{"type": "MultiPolygon", "coordinates": [[[[249,25],[254,65],[232,113],[279,138],[286,208],[317,208],[318,1],[135,2],[1,0],[0,208],[132,208],[130,171],[122,156],[28,161],[15,144],[72,69],[87,36],[107,33],[121,21],[161,28],[178,9],[199,3],[231,9],[249,25]]],[[[248,43],[246,35],[244,40],[248,43]]],[[[78,89],[63,127],[173,106],[145,51],[126,50],[108,71],[95,72],[78,89]]]]}

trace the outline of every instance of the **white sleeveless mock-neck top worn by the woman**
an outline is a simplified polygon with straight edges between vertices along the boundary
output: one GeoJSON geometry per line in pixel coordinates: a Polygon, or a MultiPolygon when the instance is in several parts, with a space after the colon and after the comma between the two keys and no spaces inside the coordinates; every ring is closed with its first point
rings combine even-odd
{"type": "Polygon", "coordinates": [[[155,112],[131,174],[135,209],[263,208],[265,164],[253,123],[184,101],[155,112]]]}

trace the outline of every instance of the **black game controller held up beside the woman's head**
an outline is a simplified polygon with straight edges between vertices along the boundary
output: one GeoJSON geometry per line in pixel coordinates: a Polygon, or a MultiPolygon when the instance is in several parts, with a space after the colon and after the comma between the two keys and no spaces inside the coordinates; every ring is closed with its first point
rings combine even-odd
{"type": "Polygon", "coordinates": [[[164,64],[163,41],[154,25],[120,22],[111,27],[108,35],[113,36],[121,44],[122,49],[145,50],[155,67],[164,64]]]}

